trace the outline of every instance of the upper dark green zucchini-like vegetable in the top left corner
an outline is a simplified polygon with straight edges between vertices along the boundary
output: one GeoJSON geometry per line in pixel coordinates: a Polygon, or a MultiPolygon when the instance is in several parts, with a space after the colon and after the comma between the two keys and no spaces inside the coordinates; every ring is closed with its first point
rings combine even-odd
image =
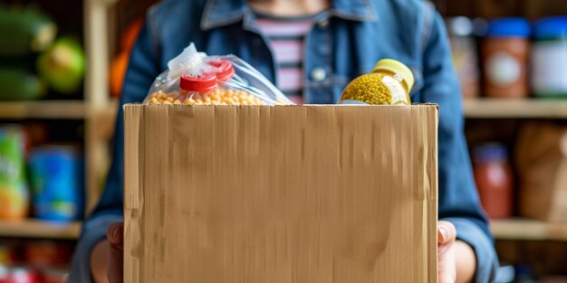
{"type": "Polygon", "coordinates": [[[56,33],[57,26],[40,11],[0,5],[0,56],[42,52],[53,43],[56,33]]]}

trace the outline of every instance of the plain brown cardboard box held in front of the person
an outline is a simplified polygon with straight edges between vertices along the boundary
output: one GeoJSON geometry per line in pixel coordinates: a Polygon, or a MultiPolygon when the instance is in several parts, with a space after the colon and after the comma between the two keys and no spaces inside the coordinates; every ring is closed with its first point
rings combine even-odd
{"type": "Polygon", "coordinates": [[[125,282],[437,282],[437,106],[124,119],[125,282]]]}

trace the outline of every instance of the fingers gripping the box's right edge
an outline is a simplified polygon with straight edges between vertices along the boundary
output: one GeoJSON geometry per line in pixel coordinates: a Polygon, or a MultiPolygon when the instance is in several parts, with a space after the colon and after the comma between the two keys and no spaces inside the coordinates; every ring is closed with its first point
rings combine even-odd
{"type": "Polygon", "coordinates": [[[456,282],[456,229],[451,222],[437,222],[439,283],[456,282]]]}

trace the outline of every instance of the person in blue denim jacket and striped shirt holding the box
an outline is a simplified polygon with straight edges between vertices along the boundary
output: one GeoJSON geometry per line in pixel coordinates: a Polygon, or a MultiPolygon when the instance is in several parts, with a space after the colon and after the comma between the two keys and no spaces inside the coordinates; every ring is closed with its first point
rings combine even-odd
{"type": "Polygon", "coordinates": [[[461,94],[443,20],[421,0],[169,0],[149,10],[130,56],[114,160],[101,202],[84,223],[70,282],[122,281],[123,119],[190,42],[234,53],[298,103],[335,103],[382,58],[408,65],[414,102],[440,106],[439,282],[490,282],[498,259],[476,193],[463,134],[461,94]]]}

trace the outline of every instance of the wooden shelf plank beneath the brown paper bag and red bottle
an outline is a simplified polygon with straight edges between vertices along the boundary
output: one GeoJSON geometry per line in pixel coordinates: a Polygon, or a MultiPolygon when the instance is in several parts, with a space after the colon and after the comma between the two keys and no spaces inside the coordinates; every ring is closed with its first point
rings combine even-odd
{"type": "Polygon", "coordinates": [[[490,227],[497,240],[567,241],[567,223],[534,220],[493,220],[490,227]]]}

